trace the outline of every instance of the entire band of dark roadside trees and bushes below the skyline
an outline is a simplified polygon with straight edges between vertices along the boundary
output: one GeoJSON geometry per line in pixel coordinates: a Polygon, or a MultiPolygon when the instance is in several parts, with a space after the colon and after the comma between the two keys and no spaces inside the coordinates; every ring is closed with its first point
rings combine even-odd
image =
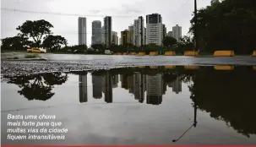
{"type": "MultiPolygon", "coordinates": [[[[256,50],[256,1],[252,0],[223,0],[211,3],[198,11],[198,46],[200,55],[212,55],[215,51],[232,50],[236,55],[250,55],[256,50]]],[[[90,47],[86,45],[68,46],[68,41],[61,35],[53,35],[53,25],[48,21],[27,20],[16,30],[19,34],[2,39],[2,52],[23,52],[27,48],[42,47],[52,53],[104,54],[105,50],[113,53],[123,52],[158,52],[163,55],[166,51],[182,55],[184,51],[195,49],[193,37],[195,18],[190,20],[191,27],[188,35],[179,41],[171,36],[164,36],[162,46],[150,44],[133,46],[132,44],[115,45],[108,48],[104,44],[90,47]],[[40,28],[40,29],[39,29],[40,28]]]]}

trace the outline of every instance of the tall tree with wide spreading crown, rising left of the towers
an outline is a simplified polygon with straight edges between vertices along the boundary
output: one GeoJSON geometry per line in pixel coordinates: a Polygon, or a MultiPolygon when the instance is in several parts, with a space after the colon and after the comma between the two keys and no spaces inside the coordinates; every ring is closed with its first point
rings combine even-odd
{"type": "Polygon", "coordinates": [[[19,30],[20,35],[33,39],[37,47],[41,46],[41,39],[44,35],[52,34],[52,24],[48,21],[41,20],[27,20],[25,23],[19,25],[16,30],[19,30]]]}

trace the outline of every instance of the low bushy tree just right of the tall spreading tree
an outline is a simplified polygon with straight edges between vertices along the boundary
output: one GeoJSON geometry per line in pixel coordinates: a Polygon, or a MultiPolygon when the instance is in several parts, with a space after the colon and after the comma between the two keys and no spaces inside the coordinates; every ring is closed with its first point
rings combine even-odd
{"type": "Polygon", "coordinates": [[[61,35],[46,35],[42,46],[53,51],[60,50],[61,46],[67,46],[67,40],[61,35]]]}

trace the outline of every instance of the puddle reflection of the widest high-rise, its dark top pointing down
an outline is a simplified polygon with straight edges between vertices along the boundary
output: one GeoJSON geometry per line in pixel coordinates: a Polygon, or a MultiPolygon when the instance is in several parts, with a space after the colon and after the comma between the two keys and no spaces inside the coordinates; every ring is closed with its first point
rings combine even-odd
{"type": "Polygon", "coordinates": [[[163,79],[161,73],[146,75],[147,104],[159,105],[162,101],[163,79]]]}

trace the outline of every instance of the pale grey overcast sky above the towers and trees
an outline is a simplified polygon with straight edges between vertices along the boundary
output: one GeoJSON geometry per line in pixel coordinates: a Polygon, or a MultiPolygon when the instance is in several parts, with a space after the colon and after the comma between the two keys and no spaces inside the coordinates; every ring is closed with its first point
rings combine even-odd
{"type": "MultiPolygon", "coordinates": [[[[198,0],[198,8],[207,5],[210,0],[198,0]]],[[[63,35],[68,45],[77,45],[78,17],[83,16],[87,18],[87,43],[90,45],[91,22],[101,20],[103,24],[106,15],[112,16],[112,30],[117,31],[118,36],[134,19],[153,13],[161,14],[167,31],[178,24],[182,26],[182,35],[187,35],[193,0],[1,0],[1,8],[1,38],[16,35],[15,28],[25,20],[46,19],[54,26],[55,35],[63,35]],[[12,11],[14,9],[26,12],[12,11]]]]}

